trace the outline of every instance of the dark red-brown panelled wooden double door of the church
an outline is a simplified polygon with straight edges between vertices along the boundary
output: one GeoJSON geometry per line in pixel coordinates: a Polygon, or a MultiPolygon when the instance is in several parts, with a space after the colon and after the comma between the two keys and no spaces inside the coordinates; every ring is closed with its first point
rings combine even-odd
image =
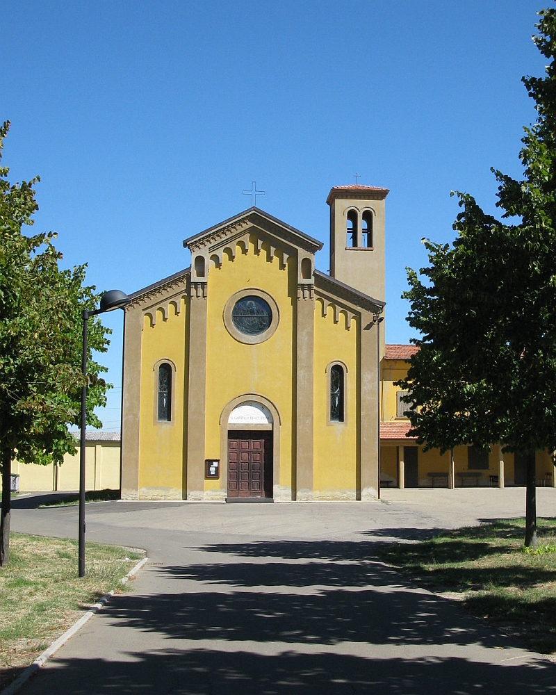
{"type": "Polygon", "coordinates": [[[272,497],[272,432],[228,432],[228,497],[272,497]]]}

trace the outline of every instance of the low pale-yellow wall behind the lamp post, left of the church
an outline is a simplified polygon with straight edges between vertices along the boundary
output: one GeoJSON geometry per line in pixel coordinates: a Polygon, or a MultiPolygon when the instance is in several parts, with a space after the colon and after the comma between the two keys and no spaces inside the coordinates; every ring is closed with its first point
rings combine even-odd
{"type": "MultiPolygon", "coordinates": [[[[54,464],[22,464],[13,461],[12,473],[19,475],[19,492],[75,491],[79,489],[79,445],[74,455],[66,454],[54,464]]],[[[85,448],[85,487],[88,490],[120,489],[120,442],[88,441],[85,448]]],[[[1,480],[0,480],[1,489],[1,480]]]]}

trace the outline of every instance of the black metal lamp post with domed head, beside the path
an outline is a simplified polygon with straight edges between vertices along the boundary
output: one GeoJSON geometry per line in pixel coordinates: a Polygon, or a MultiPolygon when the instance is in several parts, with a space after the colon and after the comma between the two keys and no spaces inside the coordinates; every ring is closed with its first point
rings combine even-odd
{"type": "Polygon", "coordinates": [[[97,316],[99,313],[123,309],[129,302],[129,297],[121,290],[109,290],[100,299],[100,309],[89,311],[83,309],[83,359],[81,361],[81,372],[85,381],[81,387],[81,445],[79,450],[79,533],[78,533],[78,556],[79,556],[79,577],[85,576],[85,415],[87,411],[87,332],[90,316],[97,316]]]}

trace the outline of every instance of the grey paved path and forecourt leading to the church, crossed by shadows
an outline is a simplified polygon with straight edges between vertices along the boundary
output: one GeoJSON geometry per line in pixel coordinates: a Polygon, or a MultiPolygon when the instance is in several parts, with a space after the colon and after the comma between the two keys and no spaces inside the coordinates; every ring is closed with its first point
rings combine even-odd
{"type": "MultiPolygon", "coordinates": [[[[556,693],[556,666],[377,562],[375,543],[523,516],[523,489],[385,490],[383,502],[106,502],[88,540],[152,564],[25,695],[556,693]]],[[[24,500],[22,500],[24,501],[24,500]]],[[[539,516],[556,516],[540,489],[539,516]]],[[[15,509],[14,530],[76,536],[77,509],[15,509]]]]}

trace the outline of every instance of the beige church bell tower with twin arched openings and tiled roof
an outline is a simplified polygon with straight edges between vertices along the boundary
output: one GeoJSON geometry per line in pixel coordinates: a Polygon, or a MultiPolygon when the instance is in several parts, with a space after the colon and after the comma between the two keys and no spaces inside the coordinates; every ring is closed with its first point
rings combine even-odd
{"type": "Polygon", "coordinates": [[[334,186],[330,206],[330,275],[381,302],[384,290],[384,202],[389,190],[334,186]]]}

